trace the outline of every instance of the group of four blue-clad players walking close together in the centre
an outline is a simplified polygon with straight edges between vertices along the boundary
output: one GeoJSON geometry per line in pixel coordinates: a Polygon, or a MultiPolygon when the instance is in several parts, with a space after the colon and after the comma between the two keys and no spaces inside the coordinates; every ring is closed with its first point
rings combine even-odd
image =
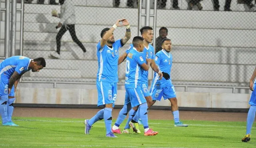
{"type": "Polygon", "coordinates": [[[98,106],[104,106],[90,119],[84,120],[85,134],[90,133],[92,125],[98,120],[104,119],[107,137],[117,137],[116,134],[129,134],[132,132],[140,134],[138,124],[144,126],[144,136],[154,136],[158,132],[153,131],[148,125],[148,114],[150,107],[163,97],[171,103],[174,126],[187,127],[179,118],[176,93],[171,80],[172,67],[172,41],[162,40],[162,50],[154,53],[153,28],[144,26],[140,28],[141,36],[132,39],[132,44],[126,52],[119,56],[118,50],[131,38],[130,23],[126,19],[117,20],[111,28],[104,28],[97,44],[98,73],[97,90],[98,106]],[[125,36],[115,40],[114,30],[118,27],[126,27],[125,36]],[[112,126],[112,110],[117,98],[118,65],[126,59],[125,70],[125,100],[117,120],[112,126]],[[148,90],[148,70],[154,71],[152,86],[148,90]],[[120,124],[128,115],[128,121],[124,129],[120,130],[120,124]]]}

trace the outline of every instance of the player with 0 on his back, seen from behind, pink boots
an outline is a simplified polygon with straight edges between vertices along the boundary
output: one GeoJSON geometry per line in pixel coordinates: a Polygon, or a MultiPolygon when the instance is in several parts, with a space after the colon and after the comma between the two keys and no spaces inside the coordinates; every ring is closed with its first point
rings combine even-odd
{"type": "MultiPolygon", "coordinates": [[[[126,102],[130,101],[131,107],[138,107],[138,114],[142,120],[144,126],[144,136],[153,136],[158,134],[148,127],[148,114],[147,109],[148,105],[146,99],[142,93],[141,88],[141,77],[142,70],[148,71],[152,59],[146,59],[147,64],[145,63],[141,52],[144,50],[144,39],[143,37],[136,36],[132,40],[133,49],[128,53],[126,58],[126,70],[125,77],[126,81],[124,84],[126,93],[128,97],[125,100],[126,102]]],[[[136,132],[136,128],[133,127],[133,130],[136,132]]]]}

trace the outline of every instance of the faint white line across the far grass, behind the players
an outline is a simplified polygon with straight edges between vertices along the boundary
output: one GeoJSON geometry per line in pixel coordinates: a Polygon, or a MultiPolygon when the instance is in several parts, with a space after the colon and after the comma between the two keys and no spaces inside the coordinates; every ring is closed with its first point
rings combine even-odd
{"type": "MultiPolygon", "coordinates": [[[[83,123],[84,121],[64,121],[64,120],[38,120],[38,119],[16,119],[14,121],[40,121],[40,122],[73,122],[73,123],[83,123]]],[[[104,123],[103,121],[98,121],[98,123],[104,123]]],[[[148,124],[163,124],[156,122],[149,122],[148,124]]],[[[172,123],[165,123],[166,125],[174,125],[172,123]]],[[[217,127],[246,127],[246,126],[232,126],[232,125],[207,125],[207,124],[188,124],[188,126],[217,126],[217,127]]],[[[255,127],[252,127],[255,128],[255,127]]]]}

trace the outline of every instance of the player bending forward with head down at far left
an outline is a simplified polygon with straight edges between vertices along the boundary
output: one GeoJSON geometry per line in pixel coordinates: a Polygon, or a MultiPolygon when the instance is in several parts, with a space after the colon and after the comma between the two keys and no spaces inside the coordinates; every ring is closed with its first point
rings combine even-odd
{"type": "Polygon", "coordinates": [[[18,126],[12,122],[13,102],[20,77],[27,71],[39,72],[46,65],[45,59],[30,59],[24,56],[12,56],[0,63],[0,114],[2,125],[18,126]]]}

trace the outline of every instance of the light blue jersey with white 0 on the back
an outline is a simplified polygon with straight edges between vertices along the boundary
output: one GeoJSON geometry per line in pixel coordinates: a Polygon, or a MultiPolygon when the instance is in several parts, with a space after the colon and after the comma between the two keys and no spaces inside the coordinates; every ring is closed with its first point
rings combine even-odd
{"type": "Polygon", "coordinates": [[[140,65],[145,63],[141,52],[136,48],[130,49],[126,57],[126,69],[125,69],[125,88],[137,88],[140,85],[142,68],[140,65]]]}

